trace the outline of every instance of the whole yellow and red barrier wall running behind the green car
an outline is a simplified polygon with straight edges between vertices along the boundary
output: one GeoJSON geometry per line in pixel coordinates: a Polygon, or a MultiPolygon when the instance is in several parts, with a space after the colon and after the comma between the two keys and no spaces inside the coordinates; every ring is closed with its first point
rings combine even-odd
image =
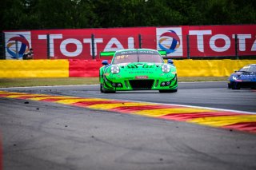
{"type": "MultiPolygon", "coordinates": [[[[0,61],[0,77],[98,77],[99,60],[0,61]]],[[[256,60],[174,60],[178,77],[224,77],[256,60]]]]}

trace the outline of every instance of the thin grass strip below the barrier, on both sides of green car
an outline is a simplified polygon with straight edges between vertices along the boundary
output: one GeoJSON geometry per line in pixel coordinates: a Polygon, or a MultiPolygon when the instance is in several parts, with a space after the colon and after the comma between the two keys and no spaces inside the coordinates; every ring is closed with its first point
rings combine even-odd
{"type": "MultiPolygon", "coordinates": [[[[227,81],[227,77],[178,77],[179,82],[227,81]]],[[[0,87],[26,87],[51,85],[96,85],[98,77],[66,78],[0,78],[0,87]]]]}

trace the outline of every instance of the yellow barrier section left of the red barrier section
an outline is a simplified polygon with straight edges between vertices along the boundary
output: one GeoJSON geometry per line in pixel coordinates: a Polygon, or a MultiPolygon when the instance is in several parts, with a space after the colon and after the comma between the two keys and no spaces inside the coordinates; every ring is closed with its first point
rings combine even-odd
{"type": "Polygon", "coordinates": [[[67,60],[1,60],[0,77],[69,77],[67,60]]]}

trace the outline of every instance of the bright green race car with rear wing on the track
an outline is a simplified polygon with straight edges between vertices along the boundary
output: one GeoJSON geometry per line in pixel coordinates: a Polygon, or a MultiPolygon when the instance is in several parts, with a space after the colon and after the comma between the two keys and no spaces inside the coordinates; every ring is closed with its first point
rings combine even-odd
{"type": "Polygon", "coordinates": [[[124,90],[159,90],[172,93],[178,90],[176,67],[172,60],[163,61],[166,51],[154,49],[122,49],[102,52],[102,56],[114,55],[111,63],[102,61],[99,69],[100,90],[114,93],[124,90]]]}

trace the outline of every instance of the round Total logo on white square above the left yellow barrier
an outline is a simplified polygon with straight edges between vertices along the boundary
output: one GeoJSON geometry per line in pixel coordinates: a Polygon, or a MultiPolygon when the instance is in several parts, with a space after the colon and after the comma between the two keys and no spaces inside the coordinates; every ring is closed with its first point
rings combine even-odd
{"type": "Polygon", "coordinates": [[[30,32],[6,33],[6,58],[22,59],[30,50],[30,32]]]}

